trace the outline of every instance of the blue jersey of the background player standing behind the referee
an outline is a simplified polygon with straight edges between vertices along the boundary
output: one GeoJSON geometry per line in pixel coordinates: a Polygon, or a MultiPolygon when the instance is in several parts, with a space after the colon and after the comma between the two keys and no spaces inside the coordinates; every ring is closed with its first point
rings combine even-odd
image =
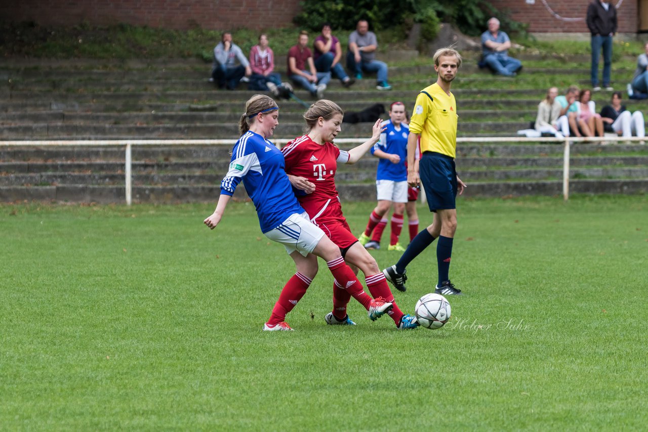
{"type": "Polygon", "coordinates": [[[376,150],[382,150],[385,153],[396,154],[400,156],[399,163],[391,163],[389,159],[378,160],[378,170],[376,171],[376,180],[406,181],[407,168],[407,139],[410,135],[410,126],[401,123],[397,129],[391,120],[382,122],[382,127],[386,130],[380,134],[380,141],[376,142],[371,148],[371,154],[376,150]]]}

